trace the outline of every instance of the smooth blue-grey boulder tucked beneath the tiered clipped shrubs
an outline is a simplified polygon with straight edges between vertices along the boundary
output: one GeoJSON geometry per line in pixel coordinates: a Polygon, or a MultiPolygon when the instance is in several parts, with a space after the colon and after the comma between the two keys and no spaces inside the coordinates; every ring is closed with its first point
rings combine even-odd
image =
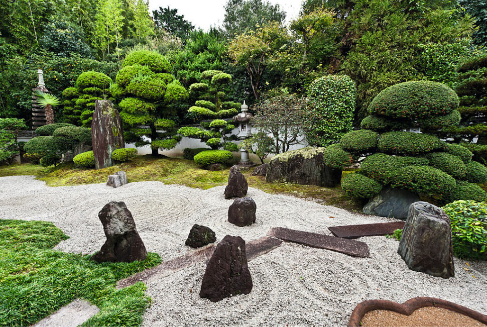
{"type": "Polygon", "coordinates": [[[381,217],[407,219],[409,206],[419,201],[419,195],[402,188],[384,187],[363,206],[363,213],[381,217]]]}

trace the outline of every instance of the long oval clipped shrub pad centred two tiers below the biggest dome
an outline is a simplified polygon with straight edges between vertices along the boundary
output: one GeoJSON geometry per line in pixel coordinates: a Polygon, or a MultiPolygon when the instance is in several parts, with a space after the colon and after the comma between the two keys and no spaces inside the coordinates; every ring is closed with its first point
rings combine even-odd
{"type": "Polygon", "coordinates": [[[437,137],[413,132],[389,132],[379,137],[377,147],[388,154],[421,155],[446,150],[446,143],[437,137]]]}

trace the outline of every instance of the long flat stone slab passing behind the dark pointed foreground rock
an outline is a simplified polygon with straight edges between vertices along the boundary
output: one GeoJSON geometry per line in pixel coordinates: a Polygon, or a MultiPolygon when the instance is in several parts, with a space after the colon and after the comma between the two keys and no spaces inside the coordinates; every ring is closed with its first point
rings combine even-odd
{"type": "MultiPolygon", "coordinates": [[[[276,249],[277,247],[281,246],[281,244],[281,240],[266,236],[249,242],[246,245],[247,261],[250,262],[257,257],[276,249]]],[[[215,244],[210,244],[204,248],[191,251],[180,257],[165,261],[152,269],[144,270],[134,276],[119,280],[116,287],[124,288],[134,285],[140,281],[144,283],[151,282],[159,278],[167,277],[182,269],[191,267],[192,265],[201,261],[208,261],[213,254],[213,251],[215,251],[215,247],[215,244]]]]}

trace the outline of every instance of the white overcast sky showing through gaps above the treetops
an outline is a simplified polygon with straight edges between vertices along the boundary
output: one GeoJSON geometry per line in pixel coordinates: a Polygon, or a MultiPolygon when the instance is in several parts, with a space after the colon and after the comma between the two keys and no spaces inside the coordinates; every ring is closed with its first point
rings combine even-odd
{"type": "MultiPolygon", "coordinates": [[[[301,0],[269,0],[272,4],[279,4],[286,12],[286,22],[296,18],[301,8],[301,0]]],[[[208,30],[211,25],[223,25],[226,0],[149,0],[151,14],[159,7],[177,9],[178,15],[190,21],[196,28],[208,30]]]]}

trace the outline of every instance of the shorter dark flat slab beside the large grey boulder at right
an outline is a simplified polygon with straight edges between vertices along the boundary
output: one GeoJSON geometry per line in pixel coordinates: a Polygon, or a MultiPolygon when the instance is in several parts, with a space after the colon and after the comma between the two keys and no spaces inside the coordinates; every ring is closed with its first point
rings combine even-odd
{"type": "Polygon", "coordinates": [[[345,239],[357,239],[364,236],[382,236],[393,234],[395,230],[402,230],[405,222],[362,224],[333,226],[328,229],[336,237],[345,239]]]}

